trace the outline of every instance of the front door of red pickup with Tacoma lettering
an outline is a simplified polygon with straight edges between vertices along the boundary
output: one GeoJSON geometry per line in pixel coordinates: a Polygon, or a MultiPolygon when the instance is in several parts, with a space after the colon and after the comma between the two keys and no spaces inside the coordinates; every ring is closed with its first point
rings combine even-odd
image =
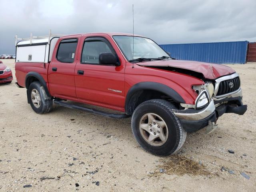
{"type": "Polygon", "coordinates": [[[123,111],[126,63],[119,57],[120,66],[99,64],[100,53],[110,52],[117,56],[111,40],[104,35],[85,35],[81,39],[80,61],[75,68],[76,96],[82,102],[123,111]]]}

